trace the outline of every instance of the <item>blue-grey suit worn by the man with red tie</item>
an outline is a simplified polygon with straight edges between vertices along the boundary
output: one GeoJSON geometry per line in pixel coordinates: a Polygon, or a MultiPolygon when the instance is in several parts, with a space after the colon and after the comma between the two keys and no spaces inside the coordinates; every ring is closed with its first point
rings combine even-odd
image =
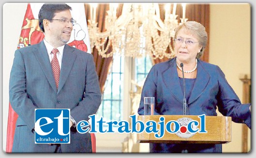
{"type": "MultiPolygon", "coordinates": [[[[101,103],[101,91],[93,57],[64,46],[57,90],[44,42],[15,51],[10,75],[10,103],[18,114],[12,152],[52,153],[56,145],[34,143],[35,109],[70,109],[76,123],[88,120],[101,103]]],[[[90,133],[71,131],[64,153],[91,152],[90,133]]]]}

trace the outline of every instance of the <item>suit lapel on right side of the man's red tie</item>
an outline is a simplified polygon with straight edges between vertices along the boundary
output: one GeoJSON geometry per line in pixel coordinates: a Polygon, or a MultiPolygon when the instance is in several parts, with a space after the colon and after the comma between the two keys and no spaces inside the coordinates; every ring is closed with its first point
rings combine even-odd
{"type": "Polygon", "coordinates": [[[63,50],[58,93],[60,92],[60,89],[64,86],[71,71],[71,68],[75,62],[76,54],[74,53],[74,49],[71,48],[72,47],[65,45],[63,50]]]}

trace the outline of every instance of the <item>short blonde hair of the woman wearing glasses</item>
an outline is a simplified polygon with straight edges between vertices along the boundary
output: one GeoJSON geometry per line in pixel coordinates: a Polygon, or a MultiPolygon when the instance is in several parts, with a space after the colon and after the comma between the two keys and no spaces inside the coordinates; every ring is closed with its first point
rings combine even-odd
{"type": "Polygon", "coordinates": [[[202,49],[196,55],[196,58],[199,59],[204,53],[204,49],[207,45],[207,40],[208,40],[208,36],[207,36],[206,31],[205,31],[205,27],[202,24],[200,24],[196,21],[184,22],[183,24],[179,25],[174,30],[175,31],[174,39],[177,38],[177,34],[179,33],[179,31],[181,29],[185,29],[186,31],[190,32],[192,35],[196,36],[199,45],[202,46],[202,49]]]}

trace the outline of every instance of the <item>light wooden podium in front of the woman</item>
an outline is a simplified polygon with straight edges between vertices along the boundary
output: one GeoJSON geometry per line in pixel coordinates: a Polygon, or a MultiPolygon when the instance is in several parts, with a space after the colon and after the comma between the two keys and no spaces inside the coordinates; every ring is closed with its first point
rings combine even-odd
{"type": "MultiPolygon", "coordinates": [[[[195,120],[199,122],[200,118],[197,115],[138,115],[137,120],[140,120],[146,125],[148,121],[161,122],[159,118],[165,117],[165,125],[168,121],[195,120]]],[[[159,125],[157,128],[159,129],[159,125]]],[[[226,144],[231,142],[231,117],[226,116],[205,116],[205,130],[207,133],[195,133],[190,138],[181,138],[175,133],[166,131],[162,138],[156,138],[156,133],[147,133],[145,130],[137,134],[137,143],[173,143],[173,144],[226,144]]],[[[181,135],[180,133],[179,135],[181,135]]]]}

